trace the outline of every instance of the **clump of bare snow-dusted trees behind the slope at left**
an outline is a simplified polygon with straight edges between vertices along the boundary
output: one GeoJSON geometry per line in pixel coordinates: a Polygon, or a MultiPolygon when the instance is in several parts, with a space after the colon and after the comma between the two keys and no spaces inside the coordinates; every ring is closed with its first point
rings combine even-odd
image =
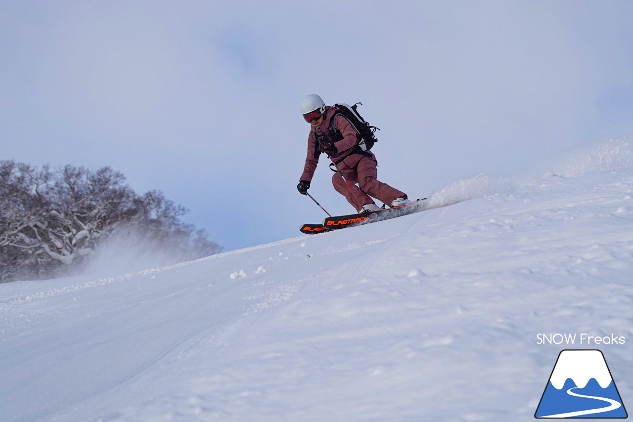
{"type": "Polygon", "coordinates": [[[137,195],[110,167],[37,170],[0,161],[0,281],[61,275],[122,230],[141,229],[149,244],[172,246],[180,259],[220,251],[179,220],[187,211],[157,190],[137,195]]]}

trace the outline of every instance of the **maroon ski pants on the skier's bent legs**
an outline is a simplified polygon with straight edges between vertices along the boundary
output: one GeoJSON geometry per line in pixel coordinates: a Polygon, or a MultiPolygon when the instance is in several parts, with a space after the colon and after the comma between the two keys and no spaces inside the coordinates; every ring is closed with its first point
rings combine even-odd
{"type": "Polygon", "coordinates": [[[394,199],[403,197],[404,192],[400,192],[398,189],[387,185],[387,183],[377,180],[377,165],[376,159],[372,156],[360,154],[349,156],[337,164],[337,168],[349,183],[349,187],[348,183],[337,172],[332,176],[334,189],[339,194],[344,195],[345,199],[357,210],[365,204],[372,204],[373,199],[370,196],[390,206],[394,199]],[[360,159],[357,159],[359,156],[360,159]],[[356,183],[358,183],[358,186],[356,186],[356,183]]]}

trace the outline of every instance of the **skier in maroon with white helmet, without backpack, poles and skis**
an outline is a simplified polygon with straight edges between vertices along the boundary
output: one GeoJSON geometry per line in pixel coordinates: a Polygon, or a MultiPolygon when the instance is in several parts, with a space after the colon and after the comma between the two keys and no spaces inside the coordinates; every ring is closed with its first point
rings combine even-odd
{"type": "Polygon", "coordinates": [[[320,96],[310,94],[304,97],[301,100],[301,113],[311,128],[306,164],[297,185],[300,194],[306,195],[310,189],[319,156],[325,152],[338,169],[332,176],[334,189],[344,195],[359,213],[370,213],[380,209],[370,196],[389,204],[392,208],[412,203],[404,192],[377,180],[376,158],[372,152],[359,151],[356,148],[357,133],[346,118],[341,115],[335,118],[335,126],[340,133],[331,128],[330,123],[335,110],[325,106],[320,96]]]}

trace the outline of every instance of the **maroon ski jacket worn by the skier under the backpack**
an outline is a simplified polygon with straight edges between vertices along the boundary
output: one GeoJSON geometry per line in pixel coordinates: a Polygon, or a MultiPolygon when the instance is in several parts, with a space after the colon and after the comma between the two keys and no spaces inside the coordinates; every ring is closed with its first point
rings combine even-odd
{"type": "MultiPolygon", "coordinates": [[[[315,133],[316,135],[321,135],[322,133],[330,130],[330,127],[332,126],[330,121],[332,120],[334,113],[335,109],[333,107],[327,107],[325,109],[325,119],[323,120],[323,123],[317,127],[310,127],[310,133],[308,134],[308,154],[306,156],[306,165],[303,168],[303,174],[299,180],[308,180],[308,182],[312,181],[312,177],[315,173],[316,165],[318,164],[318,159],[320,157],[318,145],[316,144],[315,133]]],[[[334,158],[334,161],[342,162],[343,167],[339,165],[339,168],[352,168],[356,163],[358,163],[358,159],[351,158],[351,156],[354,155],[354,147],[356,147],[356,143],[358,142],[358,139],[356,138],[356,129],[354,129],[352,125],[349,124],[349,121],[341,115],[336,116],[335,123],[336,128],[339,132],[341,132],[343,139],[334,143],[338,152],[336,154],[331,154],[331,156],[334,158]]],[[[364,154],[370,155],[373,158],[373,154],[370,151],[367,151],[364,154]]]]}

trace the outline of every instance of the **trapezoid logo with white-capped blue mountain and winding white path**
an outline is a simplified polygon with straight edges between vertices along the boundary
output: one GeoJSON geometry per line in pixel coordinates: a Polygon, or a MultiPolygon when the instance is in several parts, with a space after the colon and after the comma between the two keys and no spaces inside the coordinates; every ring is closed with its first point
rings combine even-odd
{"type": "Polygon", "coordinates": [[[534,418],[627,418],[605,356],[598,350],[558,355],[534,418]]]}

